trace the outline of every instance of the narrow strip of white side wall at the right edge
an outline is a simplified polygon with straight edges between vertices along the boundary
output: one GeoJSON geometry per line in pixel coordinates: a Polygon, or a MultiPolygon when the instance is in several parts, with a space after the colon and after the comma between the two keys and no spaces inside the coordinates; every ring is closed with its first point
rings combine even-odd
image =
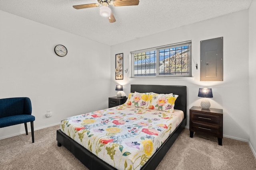
{"type": "Polygon", "coordinates": [[[256,96],[256,0],[252,1],[249,8],[249,113],[250,113],[250,133],[249,141],[251,147],[254,149],[254,156],[256,157],[256,110],[255,110],[255,96],[256,96]]]}

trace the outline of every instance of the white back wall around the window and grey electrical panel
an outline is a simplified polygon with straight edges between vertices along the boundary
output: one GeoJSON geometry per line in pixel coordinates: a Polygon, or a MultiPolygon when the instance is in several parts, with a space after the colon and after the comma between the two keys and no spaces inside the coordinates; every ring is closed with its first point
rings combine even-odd
{"type": "MultiPolygon", "coordinates": [[[[160,26],[160,25],[159,25],[160,26]]],[[[212,88],[211,107],[223,109],[223,134],[226,137],[247,141],[249,138],[248,105],[248,10],[201,21],[176,29],[139,38],[111,46],[111,94],[116,84],[124,85],[124,92],[130,92],[130,84],[185,85],[188,89],[188,111],[200,106],[199,87],[212,88]],[[224,81],[200,82],[200,41],[224,37],[224,81]],[[157,47],[192,40],[193,78],[128,78],[115,80],[114,56],[124,53],[124,70],[129,70],[129,53],[140,49],[157,47]],[[196,63],[199,69],[196,70],[196,63]]],[[[189,113],[189,112],[188,112],[189,113]]],[[[187,118],[189,114],[187,113],[187,118]]],[[[187,120],[187,126],[189,122],[187,120]]]]}

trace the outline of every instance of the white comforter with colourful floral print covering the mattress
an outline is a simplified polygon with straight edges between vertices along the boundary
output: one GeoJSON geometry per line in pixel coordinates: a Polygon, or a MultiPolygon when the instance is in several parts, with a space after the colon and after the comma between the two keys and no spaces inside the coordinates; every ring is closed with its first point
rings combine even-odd
{"type": "Polygon", "coordinates": [[[120,105],[64,119],[61,131],[116,169],[139,170],[183,117],[120,105]]]}

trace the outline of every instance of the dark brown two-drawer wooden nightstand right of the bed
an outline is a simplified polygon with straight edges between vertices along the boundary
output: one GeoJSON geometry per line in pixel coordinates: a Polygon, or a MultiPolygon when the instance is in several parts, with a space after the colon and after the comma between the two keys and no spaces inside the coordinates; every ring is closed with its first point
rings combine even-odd
{"type": "Polygon", "coordinates": [[[222,109],[202,109],[202,107],[193,106],[189,110],[189,119],[190,137],[193,137],[194,132],[202,132],[218,137],[218,144],[222,145],[222,109]]]}

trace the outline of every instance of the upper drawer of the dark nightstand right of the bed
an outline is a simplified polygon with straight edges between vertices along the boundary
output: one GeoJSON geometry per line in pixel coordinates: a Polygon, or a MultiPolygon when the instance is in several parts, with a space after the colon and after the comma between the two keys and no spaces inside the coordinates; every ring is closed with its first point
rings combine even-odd
{"type": "Polygon", "coordinates": [[[218,115],[210,115],[207,113],[197,113],[192,111],[190,119],[191,121],[194,121],[194,122],[207,123],[209,125],[220,126],[220,116],[218,115]]]}

